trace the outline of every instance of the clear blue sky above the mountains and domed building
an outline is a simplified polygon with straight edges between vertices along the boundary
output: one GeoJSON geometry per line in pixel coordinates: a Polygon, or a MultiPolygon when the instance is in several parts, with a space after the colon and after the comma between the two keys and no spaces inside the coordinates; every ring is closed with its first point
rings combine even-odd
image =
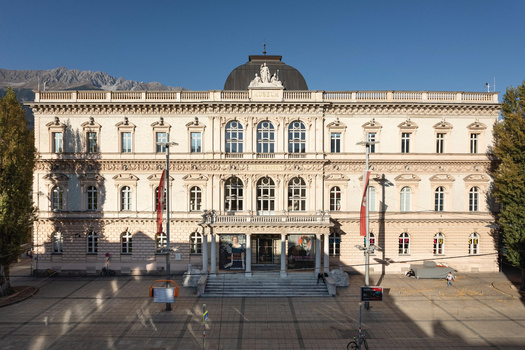
{"type": "Polygon", "coordinates": [[[250,54],[311,90],[497,91],[525,79],[523,0],[0,0],[0,68],[220,90],[250,54]],[[492,90],[492,89],[491,89],[492,90]]]}

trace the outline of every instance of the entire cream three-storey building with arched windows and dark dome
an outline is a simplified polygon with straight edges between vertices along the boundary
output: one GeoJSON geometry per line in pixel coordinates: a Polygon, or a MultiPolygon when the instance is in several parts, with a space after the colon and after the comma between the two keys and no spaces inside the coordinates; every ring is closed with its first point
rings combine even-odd
{"type": "Polygon", "coordinates": [[[169,147],[171,270],[364,271],[444,262],[497,271],[487,150],[497,93],[312,91],[250,56],[222,91],[40,91],[34,269],[164,273],[158,187],[169,147]]]}

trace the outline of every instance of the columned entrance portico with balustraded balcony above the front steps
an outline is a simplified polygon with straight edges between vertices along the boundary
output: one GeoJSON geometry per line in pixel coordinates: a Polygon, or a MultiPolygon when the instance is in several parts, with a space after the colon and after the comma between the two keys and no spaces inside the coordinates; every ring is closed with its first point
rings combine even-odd
{"type": "Polygon", "coordinates": [[[212,276],[217,270],[244,272],[246,277],[251,277],[253,270],[279,269],[281,277],[293,270],[311,269],[316,275],[329,271],[328,240],[333,225],[325,213],[273,216],[207,213],[203,217],[204,273],[208,272],[208,263],[212,276]]]}

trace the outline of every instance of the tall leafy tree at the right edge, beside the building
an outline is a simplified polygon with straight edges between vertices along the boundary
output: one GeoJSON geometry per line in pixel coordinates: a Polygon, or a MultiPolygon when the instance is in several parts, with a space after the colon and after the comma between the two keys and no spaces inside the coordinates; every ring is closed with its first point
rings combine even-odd
{"type": "Polygon", "coordinates": [[[521,269],[525,291],[525,81],[507,88],[503,119],[494,126],[493,195],[500,203],[496,221],[508,261],[521,269]]]}

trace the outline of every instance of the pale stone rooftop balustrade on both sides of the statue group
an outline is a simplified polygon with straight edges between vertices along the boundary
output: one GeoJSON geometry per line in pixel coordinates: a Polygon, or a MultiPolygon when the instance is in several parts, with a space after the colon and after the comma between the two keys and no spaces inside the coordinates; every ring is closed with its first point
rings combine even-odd
{"type": "MultiPolygon", "coordinates": [[[[248,91],[37,91],[35,102],[248,102],[248,91]]],[[[497,92],[284,91],[284,102],[498,103],[497,92]]]]}

